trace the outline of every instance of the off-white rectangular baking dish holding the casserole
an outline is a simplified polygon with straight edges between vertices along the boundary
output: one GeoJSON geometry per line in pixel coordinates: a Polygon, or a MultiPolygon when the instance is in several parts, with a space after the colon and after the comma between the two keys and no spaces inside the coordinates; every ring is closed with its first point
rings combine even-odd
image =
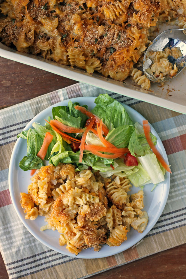
{"type": "MultiPolygon", "coordinates": [[[[167,28],[169,29],[169,28],[167,28]]],[[[151,85],[151,90],[143,90],[129,77],[124,82],[105,78],[99,73],[88,74],[85,70],[64,66],[44,58],[17,52],[0,43],[0,56],[24,63],[67,78],[85,82],[108,91],[113,91],[151,104],[165,107],[186,114],[186,76],[185,70],[164,86],[158,83],[151,85]]]]}

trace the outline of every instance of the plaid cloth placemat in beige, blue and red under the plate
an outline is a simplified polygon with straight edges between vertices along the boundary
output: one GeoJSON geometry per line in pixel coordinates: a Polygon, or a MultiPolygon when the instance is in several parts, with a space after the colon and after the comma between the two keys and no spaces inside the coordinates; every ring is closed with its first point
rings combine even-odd
{"type": "Polygon", "coordinates": [[[0,111],[0,250],[11,279],[86,278],[186,242],[186,115],[115,93],[109,95],[149,120],[159,134],[171,164],[170,193],[156,225],[141,243],[123,253],[102,259],[78,259],[50,250],[19,220],[8,190],[8,167],[16,135],[50,105],[100,93],[105,91],[78,83],[0,111]]]}

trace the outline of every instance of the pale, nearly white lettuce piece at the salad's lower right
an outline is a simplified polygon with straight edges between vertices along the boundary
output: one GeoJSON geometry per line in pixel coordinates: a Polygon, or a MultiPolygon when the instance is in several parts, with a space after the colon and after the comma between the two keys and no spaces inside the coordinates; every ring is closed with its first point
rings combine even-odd
{"type": "Polygon", "coordinates": [[[150,176],[150,180],[153,184],[157,184],[165,180],[164,174],[154,153],[138,157],[138,161],[150,176]]]}

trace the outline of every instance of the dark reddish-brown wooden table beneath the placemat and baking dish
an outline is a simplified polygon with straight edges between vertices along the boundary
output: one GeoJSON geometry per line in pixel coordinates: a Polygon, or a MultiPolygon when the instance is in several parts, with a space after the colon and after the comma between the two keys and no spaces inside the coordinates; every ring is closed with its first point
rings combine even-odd
{"type": "MultiPolygon", "coordinates": [[[[0,68],[0,109],[76,83],[76,81],[71,79],[1,57],[0,68]]],[[[186,244],[91,277],[91,279],[106,278],[185,279],[186,244]]],[[[7,271],[1,256],[0,279],[8,279],[7,271]]]]}

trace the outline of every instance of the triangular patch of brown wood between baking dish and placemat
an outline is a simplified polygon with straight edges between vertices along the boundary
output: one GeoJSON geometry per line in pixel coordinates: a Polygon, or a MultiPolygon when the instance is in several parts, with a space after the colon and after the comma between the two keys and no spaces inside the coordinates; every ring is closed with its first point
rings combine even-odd
{"type": "Polygon", "coordinates": [[[77,83],[75,80],[2,57],[0,69],[0,108],[77,83]]]}

